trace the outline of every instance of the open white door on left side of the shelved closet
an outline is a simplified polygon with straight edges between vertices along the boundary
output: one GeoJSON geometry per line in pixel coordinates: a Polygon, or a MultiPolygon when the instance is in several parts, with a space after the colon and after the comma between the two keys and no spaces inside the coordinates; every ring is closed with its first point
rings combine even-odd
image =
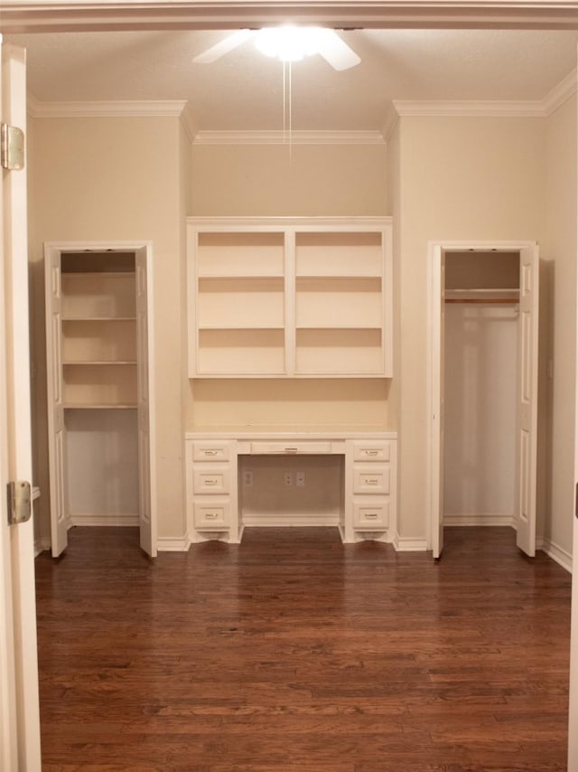
{"type": "Polygon", "coordinates": [[[46,351],[48,395],[48,458],[51,499],[51,551],[58,558],[68,546],[68,505],[64,470],[66,442],[61,386],[61,250],[44,249],[44,286],[46,295],[46,351]]]}

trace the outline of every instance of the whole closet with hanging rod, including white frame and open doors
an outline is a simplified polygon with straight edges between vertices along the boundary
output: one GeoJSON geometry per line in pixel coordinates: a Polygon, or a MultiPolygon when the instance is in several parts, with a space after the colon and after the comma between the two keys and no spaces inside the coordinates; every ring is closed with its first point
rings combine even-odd
{"type": "Polygon", "coordinates": [[[430,245],[433,558],[445,525],[503,525],[536,552],[535,243],[430,245]]]}

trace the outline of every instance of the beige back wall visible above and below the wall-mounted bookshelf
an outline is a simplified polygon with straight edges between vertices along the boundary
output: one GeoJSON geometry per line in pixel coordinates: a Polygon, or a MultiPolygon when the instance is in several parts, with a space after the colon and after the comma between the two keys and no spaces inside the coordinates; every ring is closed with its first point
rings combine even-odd
{"type": "MultiPolygon", "coordinates": [[[[194,146],[195,216],[386,214],[384,145],[194,146]]],[[[190,381],[187,427],[395,426],[382,380],[190,381]]]]}

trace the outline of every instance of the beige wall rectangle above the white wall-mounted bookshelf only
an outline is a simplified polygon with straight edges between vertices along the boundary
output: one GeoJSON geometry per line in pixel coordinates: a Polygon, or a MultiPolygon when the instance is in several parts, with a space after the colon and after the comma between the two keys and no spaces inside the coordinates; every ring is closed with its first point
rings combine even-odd
{"type": "Polygon", "coordinates": [[[193,145],[191,214],[381,215],[384,145],[193,145]]]}

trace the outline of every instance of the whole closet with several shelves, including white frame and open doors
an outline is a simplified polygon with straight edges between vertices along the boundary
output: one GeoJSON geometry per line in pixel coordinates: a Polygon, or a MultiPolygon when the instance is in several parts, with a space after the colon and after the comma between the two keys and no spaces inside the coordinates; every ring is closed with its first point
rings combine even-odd
{"type": "Polygon", "coordinates": [[[51,551],[75,525],[138,526],[156,553],[151,248],[47,244],[51,551]]]}

